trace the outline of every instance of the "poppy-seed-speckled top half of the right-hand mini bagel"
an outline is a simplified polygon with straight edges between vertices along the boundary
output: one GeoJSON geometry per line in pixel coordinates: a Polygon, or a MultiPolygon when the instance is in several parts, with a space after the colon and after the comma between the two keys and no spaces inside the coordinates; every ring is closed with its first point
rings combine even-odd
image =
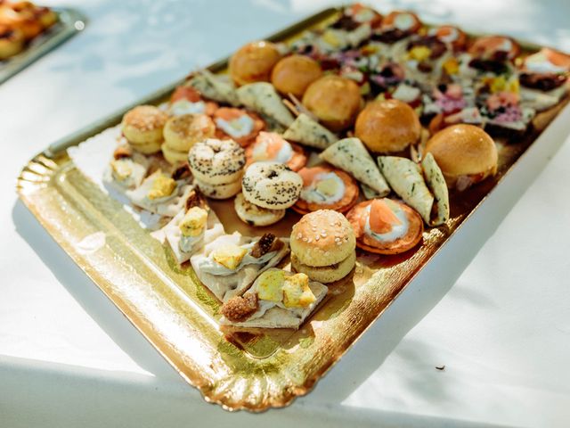
{"type": "Polygon", "coordinates": [[[270,210],[285,210],[297,202],[303,179],[281,162],[252,163],[241,180],[248,202],[270,210]]]}

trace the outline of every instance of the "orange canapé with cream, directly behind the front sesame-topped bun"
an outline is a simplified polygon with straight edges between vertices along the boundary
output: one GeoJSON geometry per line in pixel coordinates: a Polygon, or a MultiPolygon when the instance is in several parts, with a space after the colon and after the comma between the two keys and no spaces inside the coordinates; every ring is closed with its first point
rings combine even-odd
{"type": "Polygon", "coordinates": [[[358,201],[358,185],[353,177],[328,166],[298,171],[303,188],[293,210],[307,214],[316,210],[346,212],[358,201]]]}

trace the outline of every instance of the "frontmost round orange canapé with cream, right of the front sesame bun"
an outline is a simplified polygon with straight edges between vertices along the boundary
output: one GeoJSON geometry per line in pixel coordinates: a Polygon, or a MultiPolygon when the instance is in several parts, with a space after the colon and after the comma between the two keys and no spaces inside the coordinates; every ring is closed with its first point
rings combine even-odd
{"type": "Polygon", "coordinates": [[[424,223],[408,205],[391,199],[361,202],[346,214],[356,246],[377,254],[411,250],[422,238],[424,223]]]}

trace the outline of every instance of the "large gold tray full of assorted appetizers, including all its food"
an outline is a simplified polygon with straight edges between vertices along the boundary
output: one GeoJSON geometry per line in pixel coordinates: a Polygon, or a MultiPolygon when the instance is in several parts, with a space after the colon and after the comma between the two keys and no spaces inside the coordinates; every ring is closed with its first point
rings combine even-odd
{"type": "Polygon", "coordinates": [[[314,383],[568,100],[570,56],[328,9],[54,144],[28,208],[205,399],[314,383]]]}

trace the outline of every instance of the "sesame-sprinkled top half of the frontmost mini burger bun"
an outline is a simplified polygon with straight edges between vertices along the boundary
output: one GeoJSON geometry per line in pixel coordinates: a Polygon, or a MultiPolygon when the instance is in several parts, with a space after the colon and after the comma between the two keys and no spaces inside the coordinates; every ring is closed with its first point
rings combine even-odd
{"type": "Polygon", "coordinates": [[[350,256],[356,248],[356,238],[345,216],[333,210],[317,210],[293,226],[290,245],[300,264],[323,267],[350,256]]]}

